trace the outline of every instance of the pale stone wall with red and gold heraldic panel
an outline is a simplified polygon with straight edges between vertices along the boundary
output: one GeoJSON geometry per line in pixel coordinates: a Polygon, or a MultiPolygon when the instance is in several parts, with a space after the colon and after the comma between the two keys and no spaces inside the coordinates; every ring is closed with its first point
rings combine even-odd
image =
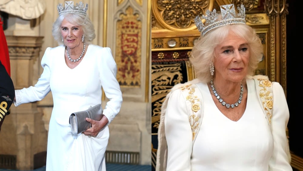
{"type": "Polygon", "coordinates": [[[109,1],[105,46],[112,47],[122,108],[109,125],[108,150],[139,152],[140,164],[151,164],[150,1],[109,1]],[[121,143],[123,142],[123,143],[121,143]]]}

